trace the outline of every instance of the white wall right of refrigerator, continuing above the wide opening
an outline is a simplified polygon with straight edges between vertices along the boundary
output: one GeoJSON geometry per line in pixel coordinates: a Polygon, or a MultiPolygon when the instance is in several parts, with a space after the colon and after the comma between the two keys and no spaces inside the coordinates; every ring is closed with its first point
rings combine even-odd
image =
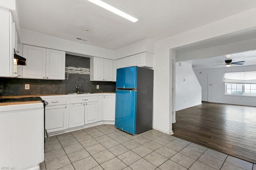
{"type": "Polygon", "coordinates": [[[255,29],[255,16],[256,8],[253,8],[156,42],[154,53],[154,129],[172,133],[171,59],[175,56],[172,56],[170,49],[245,29],[255,29]]]}

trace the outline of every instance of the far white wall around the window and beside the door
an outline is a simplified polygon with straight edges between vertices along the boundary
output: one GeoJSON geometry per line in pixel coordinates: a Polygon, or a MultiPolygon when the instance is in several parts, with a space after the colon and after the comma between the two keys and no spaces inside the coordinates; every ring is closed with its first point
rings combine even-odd
{"type": "Polygon", "coordinates": [[[231,96],[225,95],[225,83],[223,82],[224,72],[256,71],[256,65],[251,66],[231,66],[229,68],[196,69],[196,74],[209,75],[209,102],[238,104],[245,106],[256,106],[256,97],[254,96],[231,96]]]}

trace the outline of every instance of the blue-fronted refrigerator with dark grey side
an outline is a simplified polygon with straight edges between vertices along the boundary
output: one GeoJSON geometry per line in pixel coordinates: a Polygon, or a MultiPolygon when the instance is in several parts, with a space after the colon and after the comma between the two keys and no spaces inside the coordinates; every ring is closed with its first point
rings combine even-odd
{"type": "Polygon", "coordinates": [[[116,70],[115,126],[133,135],[152,129],[153,76],[148,68],[116,70]]]}

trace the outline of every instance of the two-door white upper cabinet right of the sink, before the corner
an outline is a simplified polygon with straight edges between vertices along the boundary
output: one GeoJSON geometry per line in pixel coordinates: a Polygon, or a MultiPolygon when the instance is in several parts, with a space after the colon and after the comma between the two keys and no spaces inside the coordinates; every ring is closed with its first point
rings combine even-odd
{"type": "Polygon", "coordinates": [[[90,59],[91,81],[113,81],[113,61],[93,57],[90,59]]]}

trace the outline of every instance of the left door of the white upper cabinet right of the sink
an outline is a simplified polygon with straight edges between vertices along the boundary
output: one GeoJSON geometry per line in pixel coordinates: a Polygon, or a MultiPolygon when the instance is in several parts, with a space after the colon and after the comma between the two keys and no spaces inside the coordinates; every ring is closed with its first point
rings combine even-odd
{"type": "Polygon", "coordinates": [[[104,81],[104,59],[94,57],[94,81],[104,81]]]}

